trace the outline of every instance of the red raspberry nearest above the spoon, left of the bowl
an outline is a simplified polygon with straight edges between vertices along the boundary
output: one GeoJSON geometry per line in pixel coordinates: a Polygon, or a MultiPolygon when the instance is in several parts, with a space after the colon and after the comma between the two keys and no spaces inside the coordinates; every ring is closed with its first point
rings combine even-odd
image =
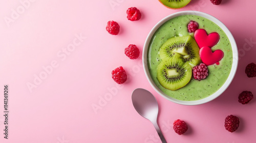
{"type": "Polygon", "coordinates": [[[123,67],[118,67],[112,71],[112,78],[118,83],[122,84],[127,80],[127,75],[123,67]]]}

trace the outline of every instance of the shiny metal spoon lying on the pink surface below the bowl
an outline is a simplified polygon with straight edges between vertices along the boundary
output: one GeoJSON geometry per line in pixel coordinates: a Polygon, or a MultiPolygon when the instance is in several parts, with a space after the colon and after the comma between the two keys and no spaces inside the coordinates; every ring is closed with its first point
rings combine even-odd
{"type": "Polygon", "coordinates": [[[154,95],[144,89],[135,89],[132,94],[133,106],[137,112],[145,119],[150,120],[157,130],[163,143],[167,143],[157,125],[158,103],[154,95]]]}

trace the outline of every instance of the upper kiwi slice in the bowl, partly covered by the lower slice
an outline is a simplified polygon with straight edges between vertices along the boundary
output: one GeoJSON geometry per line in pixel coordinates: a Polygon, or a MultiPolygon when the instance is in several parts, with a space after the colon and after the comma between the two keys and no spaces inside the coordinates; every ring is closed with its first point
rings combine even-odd
{"type": "Polygon", "coordinates": [[[191,67],[201,63],[197,42],[190,35],[178,36],[168,39],[159,50],[162,60],[172,58],[174,52],[183,56],[184,62],[188,62],[191,67]]]}

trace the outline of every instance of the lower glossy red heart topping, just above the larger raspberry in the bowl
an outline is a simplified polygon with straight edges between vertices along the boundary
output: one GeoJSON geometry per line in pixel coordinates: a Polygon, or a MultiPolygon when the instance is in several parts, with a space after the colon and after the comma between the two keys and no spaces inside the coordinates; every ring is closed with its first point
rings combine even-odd
{"type": "Polygon", "coordinates": [[[224,53],[222,50],[212,52],[210,47],[202,47],[199,51],[199,55],[202,62],[209,66],[219,62],[223,58],[224,53]]]}

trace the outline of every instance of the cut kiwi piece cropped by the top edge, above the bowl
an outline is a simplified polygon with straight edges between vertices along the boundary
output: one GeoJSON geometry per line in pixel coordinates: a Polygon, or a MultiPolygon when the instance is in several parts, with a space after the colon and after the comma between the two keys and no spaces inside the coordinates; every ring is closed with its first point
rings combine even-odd
{"type": "Polygon", "coordinates": [[[159,0],[164,6],[170,9],[180,9],[185,7],[191,0],[159,0]]]}

